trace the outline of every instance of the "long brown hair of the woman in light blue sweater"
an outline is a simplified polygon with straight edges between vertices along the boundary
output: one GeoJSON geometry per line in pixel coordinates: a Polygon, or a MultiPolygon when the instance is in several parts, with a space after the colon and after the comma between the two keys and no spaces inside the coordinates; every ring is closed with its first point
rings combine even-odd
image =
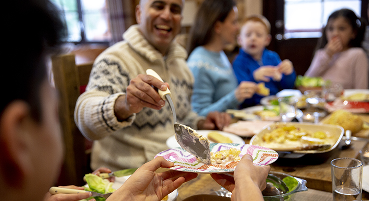
{"type": "Polygon", "coordinates": [[[196,47],[209,43],[214,34],[215,23],[224,22],[234,6],[236,6],[234,0],[204,0],[189,33],[188,55],[196,47]]]}

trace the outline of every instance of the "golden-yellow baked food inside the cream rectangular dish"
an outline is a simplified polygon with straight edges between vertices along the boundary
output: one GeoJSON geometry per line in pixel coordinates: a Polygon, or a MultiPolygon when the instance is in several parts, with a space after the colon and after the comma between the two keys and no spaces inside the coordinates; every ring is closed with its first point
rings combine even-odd
{"type": "Polygon", "coordinates": [[[277,126],[262,136],[259,146],[274,150],[323,150],[334,144],[333,136],[323,131],[312,132],[296,126],[277,126]]]}

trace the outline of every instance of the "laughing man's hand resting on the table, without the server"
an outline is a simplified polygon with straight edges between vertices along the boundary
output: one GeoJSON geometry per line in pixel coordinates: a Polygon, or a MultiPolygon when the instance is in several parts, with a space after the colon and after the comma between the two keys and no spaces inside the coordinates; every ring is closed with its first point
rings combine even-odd
{"type": "Polygon", "coordinates": [[[200,120],[197,123],[198,129],[222,130],[231,122],[231,116],[225,112],[209,112],[206,120],[200,120]]]}

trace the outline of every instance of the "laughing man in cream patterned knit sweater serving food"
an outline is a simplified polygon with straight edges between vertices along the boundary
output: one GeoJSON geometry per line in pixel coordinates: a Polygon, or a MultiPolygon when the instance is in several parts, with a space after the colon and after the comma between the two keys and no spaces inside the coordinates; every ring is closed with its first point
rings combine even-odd
{"type": "Polygon", "coordinates": [[[124,41],[100,54],[87,90],[77,100],[75,121],[85,137],[94,140],[92,169],[137,168],[168,149],[174,134],[171,109],[153,88],[170,87],[177,121],[194,129],[217,129],[229,124],[225,113],[206,118],[191,111],[193,76],[187,53],[173,42],[181,28],[184,0],[141,0],[138,25],[123,34],[124,41]],[[153,69],[165,83],[146,75],[153,69]]]}

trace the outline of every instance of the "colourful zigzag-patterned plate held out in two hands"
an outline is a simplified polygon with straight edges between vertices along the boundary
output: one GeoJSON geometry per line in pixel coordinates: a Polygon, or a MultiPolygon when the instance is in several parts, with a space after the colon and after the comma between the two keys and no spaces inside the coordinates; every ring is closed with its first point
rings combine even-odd
{"type": "MultiPolygon", "coordinates": [[[[211,143],[210,151],[221,151],[235,148],[241,150],[240,157],[245,154],[250,154],[255,165],[269,165],[278,159],[278,153],[274,150],[255,146],[242,144],[226,144],[226,143],[211,143]]],[[[174,166],[170,169],[183,172],[197,172],[197,173],[230,173],[233,172],[238,162],[228,162],[224,165],[206,165],[200,162],[191,153],[185,151],[181,147],[169,149],[156,154],[162,156],[168,161],[173,161],[174,166]]]]}

